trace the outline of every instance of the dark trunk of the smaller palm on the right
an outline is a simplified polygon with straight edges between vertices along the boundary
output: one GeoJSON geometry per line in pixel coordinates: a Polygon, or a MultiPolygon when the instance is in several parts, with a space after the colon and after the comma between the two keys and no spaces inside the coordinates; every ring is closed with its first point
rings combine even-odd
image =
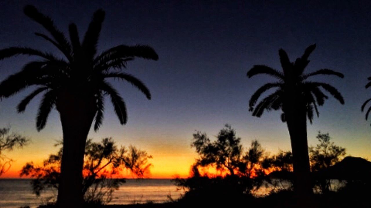
{"type": "Polygon", "coordinates": [[[309,199],[313,190],[306,135],[306,111],[296,105],[285,112],[285,115],[293,155],[294,191],[299,200],[309,199]]]}

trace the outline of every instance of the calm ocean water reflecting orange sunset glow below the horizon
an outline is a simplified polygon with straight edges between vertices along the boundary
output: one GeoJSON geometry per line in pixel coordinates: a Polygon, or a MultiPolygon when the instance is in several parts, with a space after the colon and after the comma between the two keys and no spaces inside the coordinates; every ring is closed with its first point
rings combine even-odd
{"type": "MultiPolygon", "coordinates": [[[[36,197],[30,182],[29,179],[0,179],[0,207],[20,208],[29,205],[34,208],[56,194],[49,190],[36,197]]],[[[127,179],[113,192],[109,204],[161,203],[169,201],[169,197],[177,199],[183,193],[170,179],[127,179]]]]}

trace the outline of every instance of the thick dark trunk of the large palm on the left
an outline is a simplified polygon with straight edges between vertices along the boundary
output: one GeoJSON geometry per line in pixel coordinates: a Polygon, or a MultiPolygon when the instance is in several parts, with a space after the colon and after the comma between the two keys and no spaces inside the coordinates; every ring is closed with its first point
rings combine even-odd
{"type": "Polygon", "coordinates": [[[65,98],[57,104],[63,131],[57,205],[60,208],[82,207],[85,144],[95,111],[83,98],[65,98]]]}

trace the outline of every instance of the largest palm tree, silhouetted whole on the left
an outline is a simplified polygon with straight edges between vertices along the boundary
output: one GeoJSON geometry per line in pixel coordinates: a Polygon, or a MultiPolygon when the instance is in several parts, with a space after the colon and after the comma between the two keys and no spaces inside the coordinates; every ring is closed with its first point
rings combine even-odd
{"type": "Polygon", "coordinates": [[[24,7],[24,13],[41,24],[51,37],[35,33],[57,47],[64,58],[28,48],[10,47],[0,50],[0,60],[19,54],[37,56],[39,61],[27,63],[21,71],[0,83],[0,98],[10,97],[26,87],[36,85],[35,91],[25,97],[17,106],[23,112],[29,102],[44,93],[36,117],[38,131],[45,127],[50,111],[55,107],[59,112],[63,131],[63,156],[57,203],[59,207],[79,207],[83,203],[82,166],[86,137],[94,121],[94,130],[102,124],[104,98],[108,96],[115,113],[123,125],[127,122],[124,100],[107,81],[117,78],[137,87],[148,99],[148,88],[134,76],[122,73],[127,61],[135,57],[158,60],[153,48],[147,45],[119,45],[97,54],[96,47],[102,22],[103,10],[97,10],[88,30],[80,41],[75,24],[69,25],[69,37],[58,30],[52,19],[40,13],[34,6],[24,7]]]}

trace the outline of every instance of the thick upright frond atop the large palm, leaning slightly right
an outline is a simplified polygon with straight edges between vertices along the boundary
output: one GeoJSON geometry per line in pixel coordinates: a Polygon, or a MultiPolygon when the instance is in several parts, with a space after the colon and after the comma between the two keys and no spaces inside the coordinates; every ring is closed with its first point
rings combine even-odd
{"type": "Polygon", "coordinates": [[[93,19],[89,24],[88,30],[85,33],[85,37],[82,41],[82,48],[88,58],[92,58],[96,53],[96,46],[98,44],[99,33],[102,29],[102,23],[104,21],[105,12],[99,9],[94,12],[93,19]]]}

